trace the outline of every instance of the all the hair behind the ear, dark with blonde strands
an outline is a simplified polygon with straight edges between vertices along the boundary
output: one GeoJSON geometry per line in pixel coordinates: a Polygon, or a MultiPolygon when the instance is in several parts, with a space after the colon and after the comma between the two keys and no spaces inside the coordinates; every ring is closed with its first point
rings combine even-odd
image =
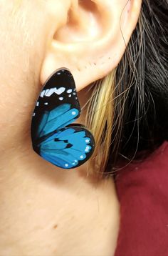
{"type": "Polygon", "coordinates": [[[167,0],[142,1],[117,68],[91,85],[85,122],[95,136],[91,164],[105,177],[168,138],[167,13],[167,0]]]}

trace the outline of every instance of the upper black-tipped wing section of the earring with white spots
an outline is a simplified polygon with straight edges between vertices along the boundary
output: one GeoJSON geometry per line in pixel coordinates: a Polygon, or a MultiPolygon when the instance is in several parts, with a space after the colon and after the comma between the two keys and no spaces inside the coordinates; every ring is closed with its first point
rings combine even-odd
{"type": "Polygon", "coordinates": [[[75,81],[68,69],[58,69],[44,84],[31,123],[33,145],[40,137],[61,129],[80,116],[75,81]]]}

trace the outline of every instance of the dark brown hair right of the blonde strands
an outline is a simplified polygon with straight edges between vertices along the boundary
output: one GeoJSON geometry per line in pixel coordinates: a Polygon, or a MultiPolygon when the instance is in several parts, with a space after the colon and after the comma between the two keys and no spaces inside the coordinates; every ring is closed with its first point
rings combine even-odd
{"type": "Polygon", "coordinates": [[[120,169],[122,159],[142,159],[168,139],[167,14],[167,0],[142,1],[115,76],[115,136],[106,174],[120,169]]]}

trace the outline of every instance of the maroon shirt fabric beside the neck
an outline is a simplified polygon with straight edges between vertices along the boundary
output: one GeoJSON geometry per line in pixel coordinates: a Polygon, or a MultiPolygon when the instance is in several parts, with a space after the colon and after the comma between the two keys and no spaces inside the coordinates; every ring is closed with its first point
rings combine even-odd
{"type": "Polygon", "coordinates": [[[168,142],[117,174],[120,232],[115,256],[168,256],[168,142]]]}

